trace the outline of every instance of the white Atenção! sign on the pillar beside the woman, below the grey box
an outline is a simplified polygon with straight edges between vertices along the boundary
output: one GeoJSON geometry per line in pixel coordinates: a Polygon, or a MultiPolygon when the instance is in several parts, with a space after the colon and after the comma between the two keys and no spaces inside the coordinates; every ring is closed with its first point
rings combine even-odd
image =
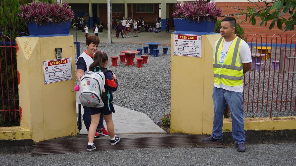
{"type": "Polygon", "coordinates": [[[43,61],[44,84],[72,79],[72,58],[43,61]]]}

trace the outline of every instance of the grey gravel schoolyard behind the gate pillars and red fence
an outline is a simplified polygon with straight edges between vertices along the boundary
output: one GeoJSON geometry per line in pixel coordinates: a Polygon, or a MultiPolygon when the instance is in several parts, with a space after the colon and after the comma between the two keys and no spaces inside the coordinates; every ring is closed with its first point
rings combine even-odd
{"type": "MultiPolygon", "coordinates": [[[[146,45],[135,45],[135,44],[99,44],[99,50],[102,50],[110,56],[118,56],[121,50],[136,50],[137,48],[143,48],[146,45]]],[[[153,57],[150,55],[148,57],[148,63],[143,64],[143,68],[137,68],[135,66],[124,66],[123,63],[119,63],[120,59],[118,58],[118,66],[112,67],[111,58],[107,68],[115,73],[118,78],[119,88],[114,95],[114,104],[120,107],[128,108],[131,110],[135,110],[141,113],[145,113],[149,116],[149,118],[156,122],[160,121],[161,117],[170,111],[170,51],[171,47],[168,47],[168,55],[162,55],[162,47],[166,46],[158,46],[160,53],[160,57],[153,57]]],[[[81,43],[80,52],[86,49],[86,44],[81,43]]],[[[255,50],[252,50],[255,53],[255,50]]],[[[273,50],[274,51],[274,50],[273,50]]],[[[275,51],[274,51],[275,52],[275,51]]],[[[140,56],[136,56],[140,57],[140,56]]],[[[277,54],[277,60],[279,59],[279,51],[277,54]]],[[[136,60],[134,60],[136,63],[136,60]]],[[[264,61],[265,66],[263,66],[261,72],[255,72],[251,70],[246,74],[245,78],[245,91],[244,96],[248,96],[249,93],[249,102],[258,102],[257,103],[249,103],[244,104],[244,117],[269,117],[270,110],[272,110],[272,116],[296,116],[295,111],[295,102],[282,104],[275,104],[271,107],[271,102],[266,103],[262,102],[267,99],[268,92],[268,101],[271,101],[271,97],[273,96],[273,101],[276,97],[279,98],[281,96],[281,92],[283,93],[282,100],[290,100],[291,95],[292,99],[295,101],[295,90],[294,95],[288,91],[291,86],[296,87],[296,79],[292,81],[292,77],[290,77],[289,81],[287,81],[287,74],[279,74],[278,71],[273,72],[271,70],[270,73],[265,74],[263,69],[265,68],[269,71],[269,62],[270,60],[264,61]],[[259,76],[260,74],[260,76],[259,76]],[[274,88],[269,88],[267,90],[267,81],[269,76],[269,80],[275,80],[274,88]],[[279,77],[278,77],[279,76],[279,77]],[[250,79],[249,79],[250,77],[250,79]],[[284,77],[284,79],[283,79],[284,77]],[[260,79],[259,79],[260,78],[260,79]],[[277,86],[277,78],[279,78],[279,86],[277,86]],[[255,80],[255,82],[254,82],[255,80]],[[247,84],[250,81],[250,90],[247,84]],[[284,82],[284,86],[282,83],[284,82]],[[258,86],[260,85],[260,86],[258,86]],[[263,85],[264,90],[263,90],[263,85]],[[275,91],[272,93],[272,89],[278,89],[278,94],[276,95],[275,91]],[[273,94],[273,95],[272,95],[273,94]],[[254,98],[254,100],[253,100],[254,98]],[[287,105],[287,108],[286,108],[287,105]],[[256,111],[258,107],[258,112],[256,111]],[[291,110],[291,111],[285,111],[291,110]],[[262,112],[261,112],[262,110],[262,112]]],[[[271,82],[271,81],[270,81],[271,82]]],[[[270,85],[271,86],[271,85],[270,85]]]]}

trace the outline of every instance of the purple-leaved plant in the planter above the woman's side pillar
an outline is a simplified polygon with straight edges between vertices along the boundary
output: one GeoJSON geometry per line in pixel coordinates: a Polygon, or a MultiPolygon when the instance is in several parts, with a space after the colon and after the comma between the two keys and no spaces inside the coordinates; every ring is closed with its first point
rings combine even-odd
{"type": "Polygon", "coordinates": [[[75,16],[66,2],[63,4],[49,4],[44,1],[32,1],[27,5],[21,5],[20,10],[22,13],[18,15],[22,21],[38,25],[46,25],[48,22],[61,24],[62,22],[72,20],[75,16]]]}

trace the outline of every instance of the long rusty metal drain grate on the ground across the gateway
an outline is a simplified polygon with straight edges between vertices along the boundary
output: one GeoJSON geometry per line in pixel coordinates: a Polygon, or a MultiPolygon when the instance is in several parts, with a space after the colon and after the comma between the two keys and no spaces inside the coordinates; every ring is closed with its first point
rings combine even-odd
{"type": "MultiPolygon", "coordinates": [[[[142,148],[197,148],[197,147],[224,147],[222,143],[205,143],[202,139],[209,135],[163,136],[144,138],[122,138],[116,145],[110,145],[110,139],[94,139],[96,151],[142,149],[142,148]]],[[[88,140],[49,140],[41,141],[31,152],[31,155],[62,154],[86,152],[88,140]]]]}

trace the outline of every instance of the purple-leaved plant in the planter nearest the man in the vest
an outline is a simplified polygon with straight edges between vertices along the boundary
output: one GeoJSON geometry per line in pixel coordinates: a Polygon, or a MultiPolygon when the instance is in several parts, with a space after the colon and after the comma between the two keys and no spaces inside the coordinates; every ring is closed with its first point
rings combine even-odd
{"type": "Polygon", "coordinates": [[[216,22],[217,17],[223,13],[223,9],[217,7],[215,3],[206,3],[205,0],[187,1],[183,4],[177,2],[176,7],[176,12],[172,13],[173,17],[188,19],[189,22],[200,22],[201,20],[216,22]]]}

